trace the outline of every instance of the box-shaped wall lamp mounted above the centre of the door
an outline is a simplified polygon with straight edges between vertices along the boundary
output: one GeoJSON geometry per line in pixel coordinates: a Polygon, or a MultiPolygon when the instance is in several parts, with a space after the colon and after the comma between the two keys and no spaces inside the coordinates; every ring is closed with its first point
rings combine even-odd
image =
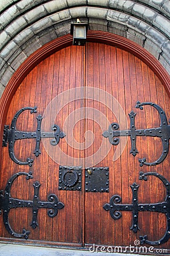
{"type": "Polygon", "coordinates": [[[76,23],[71,23],[70,34],[73,35],[73,46],[84,46],[88,30],[87,23],[81,23],[79,19],[76,23]]]}

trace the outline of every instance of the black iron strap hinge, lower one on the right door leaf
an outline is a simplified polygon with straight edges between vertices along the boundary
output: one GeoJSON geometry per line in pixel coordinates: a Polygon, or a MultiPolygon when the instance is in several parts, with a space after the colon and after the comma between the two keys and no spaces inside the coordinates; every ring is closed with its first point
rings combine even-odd
{"type": "Polygon", "coordinates": [[[111,217],[114,218],[114,220],[117,220],[118,218],[121,218],[122,214],[120,210],[128,210],[132,211],[133,213],[133,225],[131,226],[131,230],[133,230],[134,233],[136,233],[139,230],[138,226],[138,212],[160,212],[164,213],[167,218],[167,229],[165,231],[165,234],[160,240],[158,241],[150,241],[147,239],[147,236],[140,236],[139,239],[141,240],[141,244],[148,243],[149,245],[160,245],[162,243],[165,243],[170,238],[170,183],[167,179],[165,179],[164,176],[156,173],[156,172],[147,172],[146,174],[143,174],[143,172],[140,172],[139,179],[140,180],[147,180],[147,176],[156,176],[158,177],[164,184],[166,188],[167,195],[165,197],[165,201],[161,203],[155,203],[155,204],[138,204],[138,188],[139,185],[136,183],[133,183],[131,185],[131,190],[133,194],[132,204],[118,204],[121,202],[121,197],[118,195],[114,195],[110,199],[109,204],[105,204],[103,208],[105,210],[109,210],[111,217]]]}

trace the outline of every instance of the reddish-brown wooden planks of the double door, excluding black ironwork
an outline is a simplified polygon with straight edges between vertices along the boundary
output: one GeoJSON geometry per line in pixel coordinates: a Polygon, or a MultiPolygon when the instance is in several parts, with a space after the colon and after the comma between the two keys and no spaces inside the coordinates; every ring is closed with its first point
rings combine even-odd
{"type": "MultiPolygon", "coordinates": [[[[44,139],[40,144],[41,154],[37,158],[33,155],[35,139],[16,142],[16,156],[21,160],[27,157],[34,159],[32,167],[13,163],[8,155],[8,148],[3,147],[0,184],[1,189],[5,189],[7,180],[16,172],[32,171],[32,180],[25,180],[25,177],[16,180],[12,185],[11,196],[32,200],[32,184],[39,181],[39,199],[46,201],[50,193],[55,193],[65,207],[54,218],[48,217],[47,209],[39,209],[39,226],[35,230],[29,226],[32,209],[12,209],[12,228],[20,233],[23,228],[27,228],[31,231],[30,240],[56,245],[84,246],[95,243],[129,246],[144,234],[148,235],[149,240],[162,237],[166,225],[163,214],[139,213],[141,230],[134,234],[130,230],[131,212],[124,212],[119,220],[113,220],[109,212],[103,209],[103,205],[109,203],[109,199],[115,194],[122,197],[121,203],[131,204],[130,185],[134,182],[140,186],[139,203],[164,200],[165,192],[160,181],[155,177],[150,177],[148,181],[139,180],[139,171],[156,171],[170,180],[169,155],[159,166],[139,167],[139,158],[146,156],[151,162],[159,157],[162,152],[160,139],[137,137],[139,154],[134,158],[130,154],[130,138],[121,137],[121,146],[111,146],[108,150],[109,141],[102,136],[103,131],[108,129],[104,117],[108,122],[118,122],[121,108],[127,117],[128,129],[128,114],[131,110],[137,113],[137,129],[160,126],[159,115],[155,109],[150,106],[145,106],[143,110],[136,109],[137,101],[151,101],[160,105],[169,118],[169,97],[160,78],[142,59],[126,49],[97,42],[88,42],[85,47],[67,46],[46,56],[24,77],[14,96],[10,98],[7,115],[3,117],[5,123],[10,124],[19,109],[37,106],[36,114],[24,112],[17,122],[18,130],[35,131],[37,115],[43,115],[49,103],[55,99],[56,104],[49,108],[49,116],[45,115],[42,119],[43,129],[51,131],[51,126],[56,123],[66,133],[66,138],[61,139],[58,146],[52,146],[50,139],[44,139]],[[82,90],[77,90],[80,87],[82,90]],[[67,104],[63,106],[64,102],[67,104]],[[53,123],[46,122],[57,112],[53,123]],[[123,148],[122,142],[125,139],[127,143],[123,148]],[[103,140],[105,146],[100,150],[103,140]],[[96,156],[97,150],[99,155],[96,156]],[[120,157],[113,161],[113,156],[118,152],[120,157]],[[58,190],[59,164],[83,167],[82,191],[58,190]],[[109,193],[84,192],[84,167],[87,166],[109,167],[109,193]]],[[[11,239],[3,226],[2,215],[0,236],[11,239]]],[[[167,242],[162,247],[168,248],[169,245],[167,242]]]]}

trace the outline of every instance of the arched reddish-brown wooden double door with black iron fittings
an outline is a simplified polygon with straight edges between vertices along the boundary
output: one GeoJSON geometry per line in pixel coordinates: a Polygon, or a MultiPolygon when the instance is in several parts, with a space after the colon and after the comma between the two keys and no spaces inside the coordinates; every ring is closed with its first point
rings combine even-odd
{"type": "Polygon", "coordinates": [[[6,115],[1,240],[168,248],[166,117],[164,85],[124,49],[88,42],[46,57],[6,115]]]}

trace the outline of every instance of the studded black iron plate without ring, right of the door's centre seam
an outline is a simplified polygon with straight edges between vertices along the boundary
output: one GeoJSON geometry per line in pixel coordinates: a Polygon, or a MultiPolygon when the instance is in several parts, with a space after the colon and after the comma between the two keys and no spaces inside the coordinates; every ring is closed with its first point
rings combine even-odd
{"type": "Polygon", "coordinates": [[[86,192],[109,192],[109,167],[85,169],[86,192]]]}

